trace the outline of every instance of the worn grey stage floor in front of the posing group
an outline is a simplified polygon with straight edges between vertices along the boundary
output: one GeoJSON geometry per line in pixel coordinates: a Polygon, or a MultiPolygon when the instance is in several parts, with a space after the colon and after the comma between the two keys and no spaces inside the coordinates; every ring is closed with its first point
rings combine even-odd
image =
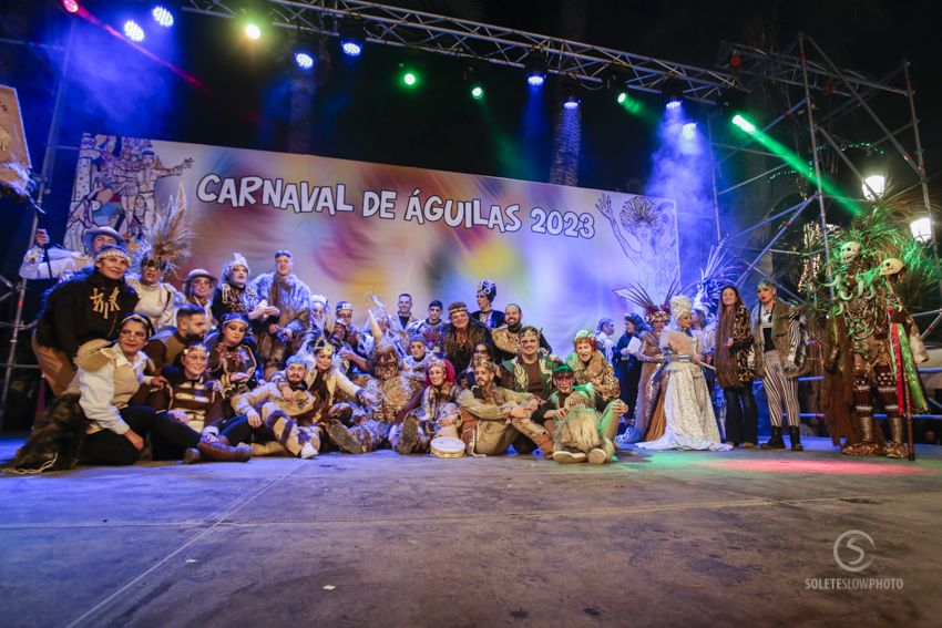
{"type": "Polygon", "coordinates": [[[8,475],[0,625],[938,626],[942,447],[806,445],[8,475]]]}

